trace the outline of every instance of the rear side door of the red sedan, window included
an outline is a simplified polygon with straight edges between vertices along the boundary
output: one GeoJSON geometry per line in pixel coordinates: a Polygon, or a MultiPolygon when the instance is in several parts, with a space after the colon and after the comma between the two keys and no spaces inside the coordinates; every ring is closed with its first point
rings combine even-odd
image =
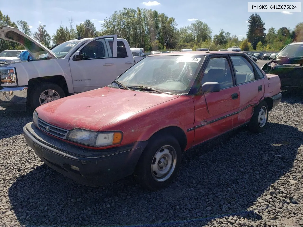
{"type": "Polygon", "coordinates": [[[230,58],[240,93],[238,122],[236,124],[242,125],[251,119],[255,105],[264,96],[264,75],[244,54],[231,54],[230,58]]]}

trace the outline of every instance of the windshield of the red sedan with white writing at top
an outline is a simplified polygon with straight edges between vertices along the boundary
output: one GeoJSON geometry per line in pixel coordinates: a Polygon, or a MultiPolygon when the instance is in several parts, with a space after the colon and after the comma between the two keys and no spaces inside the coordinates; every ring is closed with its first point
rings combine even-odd
{"type": "MultiPolygon", "coordinates": [[[[150,56],[125,71],[117,81],[169,93],[188,93],[205,55],[150,56]]],[[[112,84],[114,85],[114,83],[112,84]]]]}

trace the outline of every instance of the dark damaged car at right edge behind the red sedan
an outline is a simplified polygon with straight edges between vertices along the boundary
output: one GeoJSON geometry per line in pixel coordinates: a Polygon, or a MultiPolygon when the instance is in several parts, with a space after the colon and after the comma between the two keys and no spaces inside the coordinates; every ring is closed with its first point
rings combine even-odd
{"type": "Polygon", "coordinates": [[[262,70],[279,75],[281,87],[303,87],[303,41],[288,44],[262,70]]]}

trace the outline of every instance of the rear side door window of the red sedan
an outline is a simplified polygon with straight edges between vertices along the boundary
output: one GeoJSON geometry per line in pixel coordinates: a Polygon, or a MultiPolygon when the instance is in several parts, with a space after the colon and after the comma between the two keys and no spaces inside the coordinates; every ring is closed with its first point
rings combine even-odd
{"type": "Polygon", "coordinates": [[[231,61],[235,68],[237,84],[244,84],[255,80],[254,69],[246,58],[231,56],[231,61]]]}

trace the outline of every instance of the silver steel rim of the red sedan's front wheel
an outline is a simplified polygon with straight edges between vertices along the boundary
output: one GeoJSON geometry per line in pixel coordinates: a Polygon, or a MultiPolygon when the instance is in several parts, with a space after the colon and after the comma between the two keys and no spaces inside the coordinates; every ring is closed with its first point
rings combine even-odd
{"type": "Polygon", "coordinates": [[[158,182],[166,181],[175,171],[177,152],[174,147],[165,145],[157,150],[151,161],[151,175],[158,182]]]}

